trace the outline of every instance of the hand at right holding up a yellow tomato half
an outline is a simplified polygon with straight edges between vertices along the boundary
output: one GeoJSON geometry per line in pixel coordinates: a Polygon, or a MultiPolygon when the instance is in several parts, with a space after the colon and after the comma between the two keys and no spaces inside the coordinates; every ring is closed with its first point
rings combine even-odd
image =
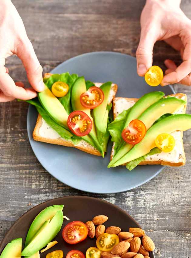
{"type": "Polygon", "coordinates": [[[141,36],[136,51],[137,73],[144,76],[152,66],[152,49],[164,40],[180,51],[183,63],[166,59],[167,70],[161,86],[182,83],[191,86],[191,21],[180,9],[180,0],[147,0],[141,14],[141,36]]]}

